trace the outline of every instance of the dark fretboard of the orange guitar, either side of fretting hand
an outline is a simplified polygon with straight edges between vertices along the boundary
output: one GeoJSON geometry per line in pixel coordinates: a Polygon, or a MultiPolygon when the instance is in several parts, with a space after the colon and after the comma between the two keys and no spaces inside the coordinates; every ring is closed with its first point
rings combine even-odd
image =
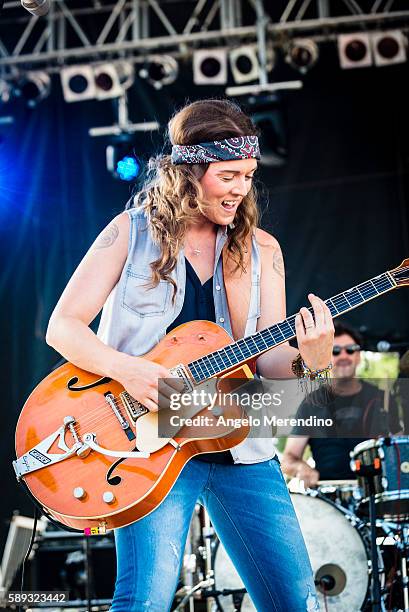
{"type": "MultiPolygon", "coordinates": [[[[397,283],[391,272],[385,272],[360,285],[356,285],[343,293],[338,293],[325,300],[333,318],[353,310],[374,298],[395,289],[397,283]]],[[[313,312],[312,307],[308,309],[313,312]]],[[[295,316],[291,315],[271,327],[267,327],[246,338],[241,338],[214,353],[201,357],[188,364],[196,382],[202,382],[213,376],[245,363],[249,359],[259,357],[270,349],[292,340],[296,336],[295,316]]]]}

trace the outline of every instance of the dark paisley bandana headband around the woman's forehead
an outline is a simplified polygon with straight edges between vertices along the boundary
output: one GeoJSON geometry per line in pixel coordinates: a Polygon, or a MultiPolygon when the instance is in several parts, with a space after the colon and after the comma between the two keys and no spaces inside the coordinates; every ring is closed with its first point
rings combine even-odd
{"type": "Polygon", "coordinates": [[[260,159],[257,136],[240,136],[202,142],[198,145],[173,145],[172,164],[208,164],[231,159],[260,159]]]}

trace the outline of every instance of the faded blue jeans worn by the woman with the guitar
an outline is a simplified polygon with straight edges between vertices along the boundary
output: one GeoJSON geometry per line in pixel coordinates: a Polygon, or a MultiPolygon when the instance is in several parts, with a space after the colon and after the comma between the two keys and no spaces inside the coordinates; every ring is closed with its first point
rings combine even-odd
{"type": "Polygon", "coordinates": [[[192,459],[154,512],[117,529],[111,612],[170,610],[197,501],[207,508],[258,612],[319,610],[304,540],[273,458],[252,465],[192,459]]]}

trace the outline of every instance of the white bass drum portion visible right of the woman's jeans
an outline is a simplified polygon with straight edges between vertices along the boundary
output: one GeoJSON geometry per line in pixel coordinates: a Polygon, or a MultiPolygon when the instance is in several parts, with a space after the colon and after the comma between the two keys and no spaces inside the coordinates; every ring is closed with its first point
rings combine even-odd
{"type": "MultiPolygon", "coordinates": [[[[359,612],[369,588],[370,542],[366,526],[351,512],[317,493],[292,493],[323,610],[359,612]]],[[[384,582],[378,553],[381,586],[384,582]]]]}

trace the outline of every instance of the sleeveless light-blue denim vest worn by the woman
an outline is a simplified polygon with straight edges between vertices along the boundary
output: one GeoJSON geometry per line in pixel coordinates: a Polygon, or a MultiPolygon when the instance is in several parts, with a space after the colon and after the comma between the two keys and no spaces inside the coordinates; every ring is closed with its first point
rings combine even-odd
{"type": "MultiPolygon", "coordinates": [[[[166,329],[182,310],[185,298],[186,265],[183,249],[179,252],[172,278],[177,285],[173,302],[173,286],[161,280],[151,289],[150,263],[160,256],[143,211],[127,211],[130,219],[128,257],[121,277],[112,289],[102,310],[97,335],[102,342],[129,355],[141,356],[150,351],[165,335],[166,329]]],[[[213,296],[216,322],[232,336],[227,297],[223,282],[221,252],[227,240],[225,228],[216,237],[213,272],[213,296]]],[[[252,241],[252,288],[245,336],[255,333],[260,316],[260,253],[252,241]]],[[[176,364],[175,364],[176,365],[176,364]]],[[[258,463],[275,455],[272,438],[252,438],[231,449],[235,463],[258,463]]]]}

